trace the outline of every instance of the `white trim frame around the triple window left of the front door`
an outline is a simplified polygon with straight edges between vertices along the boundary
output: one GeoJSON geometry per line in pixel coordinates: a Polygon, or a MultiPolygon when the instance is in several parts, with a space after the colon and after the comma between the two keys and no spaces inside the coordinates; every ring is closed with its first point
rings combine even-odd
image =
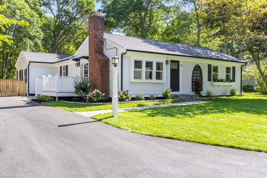
{"type": "MultiPolygon", "coordinates": [[[[166,62],[165,61],[157,61],[157,60],[144,60],[144,59],[140,59],[140,58],[132,58],[132,62],[131,62],[131,82],[151,82],[151,83],[165,83],[165,73],[166,73],[166,62]],[[140,69],[135,69],[135,61],[142,61],[142,79],[135,79],[134,78],[134,70],[140,70],[140,69]],[[152,74],[152,80],[146,80],[145,79],[145,62],[153,62],[153,74],[152,74]],[[163,73],[162,73],[162,80],[156,80],[156,63],[163,63],[163,73]]],[[[147,70],[149,71],[149,70],[147,70]]]]}

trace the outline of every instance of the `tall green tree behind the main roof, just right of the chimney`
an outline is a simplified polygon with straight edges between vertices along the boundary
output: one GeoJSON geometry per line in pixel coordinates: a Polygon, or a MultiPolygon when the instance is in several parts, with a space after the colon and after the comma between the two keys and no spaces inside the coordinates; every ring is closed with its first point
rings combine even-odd
{"type": "Polygon", "coordinates": [[[157,38],[163,22],[171,16],[170,1],[161,0],[103,0],[106,31],[117,31],[130,36],[157,38]]]}

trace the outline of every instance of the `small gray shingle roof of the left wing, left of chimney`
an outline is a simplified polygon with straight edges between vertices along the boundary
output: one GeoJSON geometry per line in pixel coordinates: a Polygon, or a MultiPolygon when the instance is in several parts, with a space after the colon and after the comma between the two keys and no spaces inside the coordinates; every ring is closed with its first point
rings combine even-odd
{"type": "Polygon", "coordinates": [[[22,51],[22,53],[28,61],[41,63],[56,63],[63,60],[67,60],[71,57],[71,55],[68,54],[54,54],[31,51],[22,51]]]}

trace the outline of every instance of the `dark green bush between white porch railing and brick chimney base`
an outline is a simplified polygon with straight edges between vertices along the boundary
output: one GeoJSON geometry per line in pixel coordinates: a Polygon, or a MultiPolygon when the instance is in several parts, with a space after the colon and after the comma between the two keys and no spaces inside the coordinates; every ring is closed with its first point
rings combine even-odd
{"type": "Polygon", "coordinates": [[[74,93],[79,94],[84,101],[86,101],[86,96],[89,93],[91,84],[88,81],[88,78],[79,78],[73,81],[74,93]]]}

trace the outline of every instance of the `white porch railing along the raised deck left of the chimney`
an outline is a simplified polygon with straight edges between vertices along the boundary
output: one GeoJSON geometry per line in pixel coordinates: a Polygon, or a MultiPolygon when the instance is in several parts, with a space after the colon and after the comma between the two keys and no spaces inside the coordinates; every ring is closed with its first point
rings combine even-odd
{"type": "Polygon", "coordinates": [[[43,76],[43,91],[50,92],[74,92],[74,81],[79,81],[82,78],[88,80],[88,77],[72,77],[72,76],[43,76]]]}

